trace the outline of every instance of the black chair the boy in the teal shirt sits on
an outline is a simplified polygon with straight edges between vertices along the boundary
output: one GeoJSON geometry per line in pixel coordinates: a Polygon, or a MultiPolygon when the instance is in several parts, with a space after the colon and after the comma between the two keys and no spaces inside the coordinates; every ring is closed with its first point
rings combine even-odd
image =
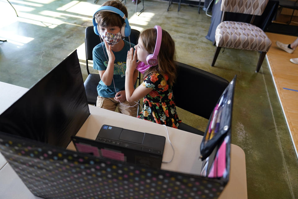
{"type": "MultiPolygon", "coordinates": [[[[139,35],[140,35],[140,31],[131,29],[130,42],[132,44],[137,44],[139,35]]],[[[125,37],[124,39],[126,41],[129,41],[128,37],[125,37]]],[[[100,36],[94,33],[93,26],[88,26],[85,29],[85,51],[86,51],[86,67],[87,67],[88,77],[84,82],[84,86],[86,90],[88,104],[93,104],[93,105],[96,105],[96,100],[98,96],[97,85],[98,85],[98,82],[100,81],[100,76],[99,76],[99,73],[89,72],[88,60],[93,60],[93,57],[92,57],[93,48],[101,42],[102,41],[100,39],[100,36]]],[[[140,73],[139,73],[138,79],[140,84],[140,73]]]]}

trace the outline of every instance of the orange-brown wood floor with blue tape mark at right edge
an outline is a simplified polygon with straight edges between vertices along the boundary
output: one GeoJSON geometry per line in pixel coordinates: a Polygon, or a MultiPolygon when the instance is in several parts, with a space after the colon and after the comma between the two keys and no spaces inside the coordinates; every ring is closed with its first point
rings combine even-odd
{"type": "Polygon", "coordinates": [[[268,32],[266,34],[272,41],[267,61],[298,158],[298,64],[290,62],[291,58],[298,58],[298,49],[290,54],[275,44],[276,41],[291,44],[297,37],[268,32]]]}

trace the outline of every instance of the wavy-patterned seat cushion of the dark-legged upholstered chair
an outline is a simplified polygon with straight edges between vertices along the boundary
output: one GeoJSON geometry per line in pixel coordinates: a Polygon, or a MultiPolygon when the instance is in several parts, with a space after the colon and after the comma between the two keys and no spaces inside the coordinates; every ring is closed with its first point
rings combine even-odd
{"type": "Polygon", "coordinates": [[[221,22],[215,30],[216,46],[268,52],[271,40],[259,27],[236,21],[221,22]]]}

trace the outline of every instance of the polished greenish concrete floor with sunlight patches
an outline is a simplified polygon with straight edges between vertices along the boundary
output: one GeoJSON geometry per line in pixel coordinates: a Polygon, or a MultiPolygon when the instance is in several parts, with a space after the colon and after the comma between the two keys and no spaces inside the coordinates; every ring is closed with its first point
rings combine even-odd
{"type": "MultiPolygon", "coordinates": [[[[84,30],[103,2],[11,0],[16,17],[8,2],[0,0],[0,39],[8,41],[0,42],[0,81],[29,88],[75,49],[85,79],[84,30]]],[[[210,17],[198,14],[197,7],[182,5],[177,12],[173,4],[167,12],[168,2],[146,0],[145,11],[137,16],[131,1],[126,6],[132,28],[160,25],[172,35],[179,62],[228,81],[237,75],[232,143],[246,154],[248,198],[298,198],[298,160],[267,62],[255,73],[259,53],[225,49],[211,67],[215,47],[205,39],[210,17]]],[[[190,100],[195,105],[196,100],[190,100]]],[[[178,115],[205,131],[206,119],[181,109],[178,115]]]]}

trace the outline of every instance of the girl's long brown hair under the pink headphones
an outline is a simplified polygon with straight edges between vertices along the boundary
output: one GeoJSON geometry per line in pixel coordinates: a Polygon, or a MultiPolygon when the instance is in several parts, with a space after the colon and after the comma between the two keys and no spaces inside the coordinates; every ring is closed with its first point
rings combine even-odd
{"type": "MultiPolygon", "coordinates": [[[[156,44],[157,32],[155,28],[150,28],[144,30],[140,38],[144,45],[144,48],[148,53],[153,54],[156,44]]],[[[167,75],[169,79],[167,80],[170,86],[173,86],[176,79],[176,51],[175,42],[171,35],[165,30],[162,30],[160,50],[158,53],[158,65],[150,67],[145,73],[144,77],[152,72],[159,72],[161,75],[167,75]]]]}

